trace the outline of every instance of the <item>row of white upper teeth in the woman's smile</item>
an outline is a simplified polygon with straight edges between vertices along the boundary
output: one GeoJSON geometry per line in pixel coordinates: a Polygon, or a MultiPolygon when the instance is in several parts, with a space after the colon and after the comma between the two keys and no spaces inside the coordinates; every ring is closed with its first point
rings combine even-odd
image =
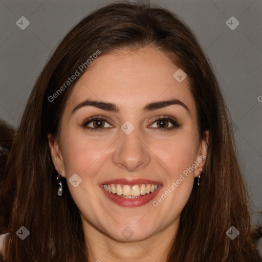
{"type": "Polygon", "coordinates": [[[141,184],[141,185],[122,185],[122,184],[109,184],[103,185],[104,190],[112,194],[138,197],[139,195],[149,194],[154,192],[158,185],[141,184]]]}

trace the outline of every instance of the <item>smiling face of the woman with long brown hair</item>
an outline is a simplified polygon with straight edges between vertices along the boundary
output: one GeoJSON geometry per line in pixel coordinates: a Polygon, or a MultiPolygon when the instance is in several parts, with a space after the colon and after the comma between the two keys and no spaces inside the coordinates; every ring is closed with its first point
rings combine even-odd
{"type": "Polygon", "coordinates": [[[77,80],[50,148],[86,230],[133,242],[178,227],[207,148],[178,69],[146,47],[101,55],[77,80]]]}

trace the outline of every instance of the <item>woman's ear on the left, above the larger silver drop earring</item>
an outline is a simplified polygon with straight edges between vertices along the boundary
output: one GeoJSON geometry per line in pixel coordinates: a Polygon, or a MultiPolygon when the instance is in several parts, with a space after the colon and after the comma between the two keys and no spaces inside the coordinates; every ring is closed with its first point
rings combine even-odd
{"type": "Polygon", "coordinates": [[[65,178],[64,164],[63,164],[63,157],[61,154],[61,150],[60,150],[57,140],[51,133],[48,134],[48,144],[49,144],[49,148],[51,151],[51,157],[52,157],[52,161],[54,163],[55,169],[57,172],[61,174],[63,178],[65,178]]]}

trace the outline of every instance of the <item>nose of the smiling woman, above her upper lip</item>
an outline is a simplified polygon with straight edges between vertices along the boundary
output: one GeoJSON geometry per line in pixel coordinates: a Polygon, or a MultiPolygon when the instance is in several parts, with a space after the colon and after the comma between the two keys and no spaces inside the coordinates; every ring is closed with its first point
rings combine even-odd
{"type": "Polygon", "coordinates": [[[140,137],[138,128],[135,128],[129,135],[120,130],[120,137],[117,139],[113,155],[115,165],[132,172],[150,163],[150,149],[140,137]]]}

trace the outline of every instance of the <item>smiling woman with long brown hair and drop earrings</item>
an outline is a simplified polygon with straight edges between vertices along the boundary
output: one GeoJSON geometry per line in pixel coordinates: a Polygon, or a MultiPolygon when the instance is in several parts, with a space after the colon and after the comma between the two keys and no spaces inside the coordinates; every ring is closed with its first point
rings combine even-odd
{"type": "Polygon", "coordinates": [[[64,37],[0,197],[6,261],[260,261],[219,84],[158,7],[110,4],[64,37]]]}

